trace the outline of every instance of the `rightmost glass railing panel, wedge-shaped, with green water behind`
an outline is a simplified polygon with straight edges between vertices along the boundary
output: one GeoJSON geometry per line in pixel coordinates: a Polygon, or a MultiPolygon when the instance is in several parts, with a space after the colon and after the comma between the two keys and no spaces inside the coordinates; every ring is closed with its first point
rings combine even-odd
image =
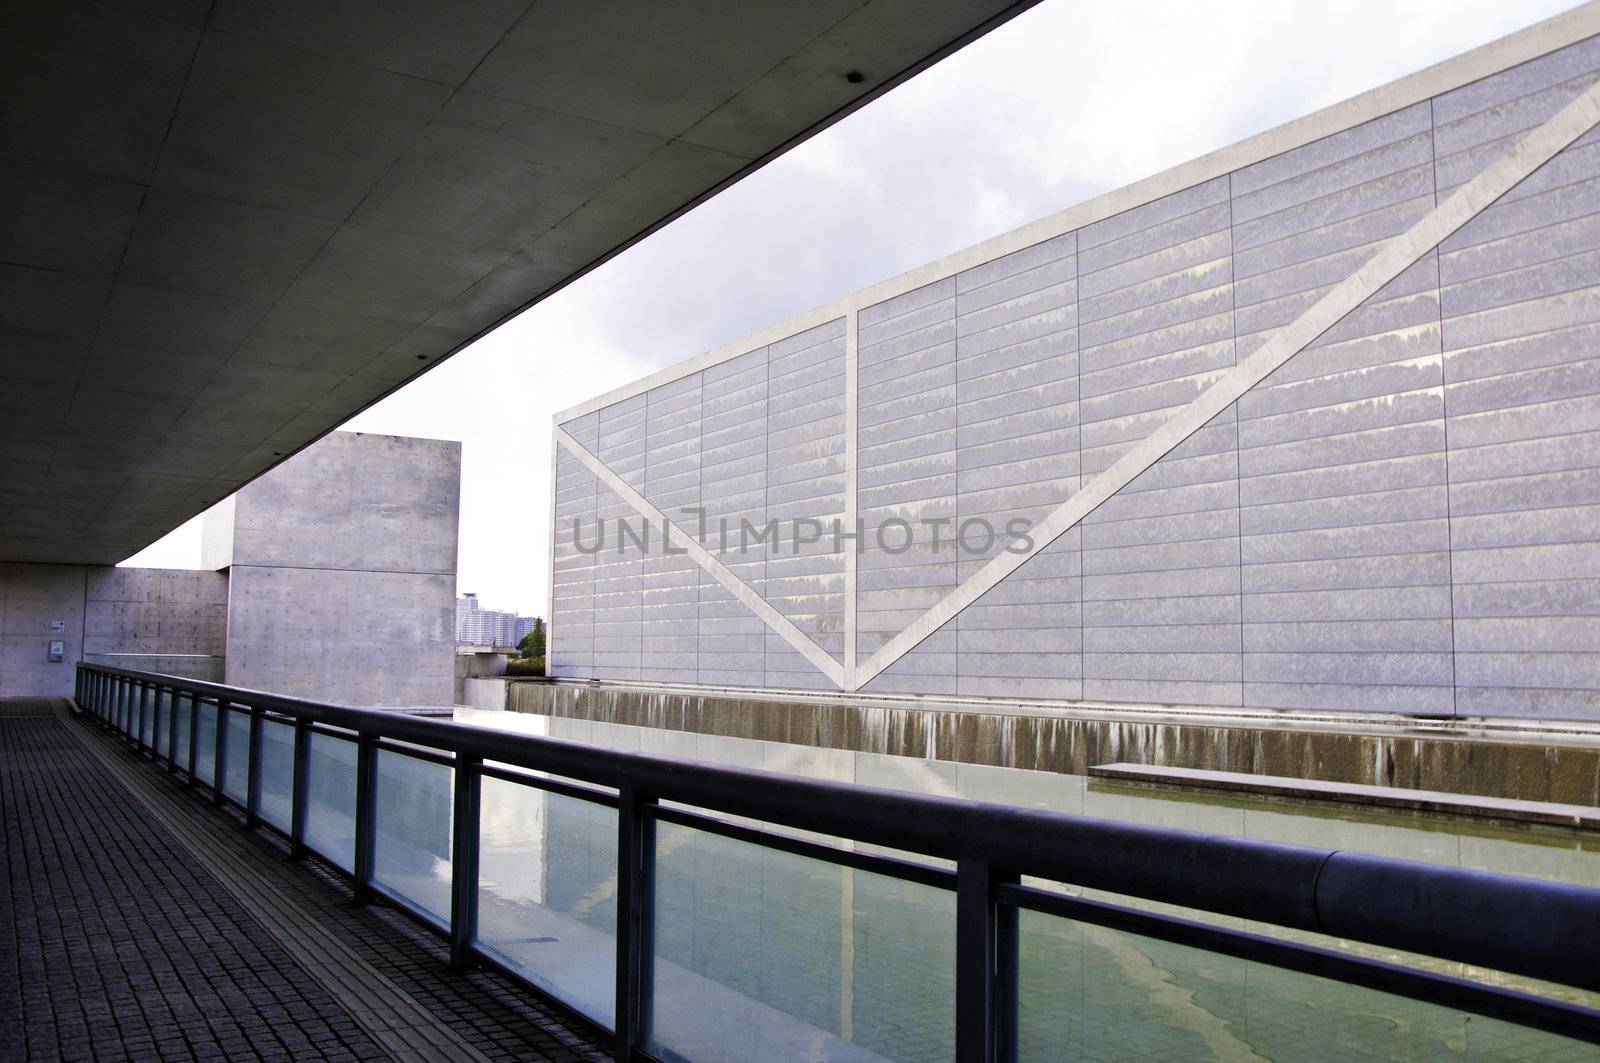
{"type": "Polygon", "coordinates": [[[1018,919],[1018,1060],[1576,1060],[1592,1045],[1059,916],[1018,919]]]}

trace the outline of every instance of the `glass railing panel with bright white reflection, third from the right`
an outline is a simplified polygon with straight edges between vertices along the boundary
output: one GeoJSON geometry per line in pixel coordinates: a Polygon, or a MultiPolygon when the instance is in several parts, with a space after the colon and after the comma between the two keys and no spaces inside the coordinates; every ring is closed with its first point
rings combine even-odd
{"type": "Polygon", "coordinates": [[[602,1026],[616,1005],[616,808],[485,778],[477,946],[602,1026]]]}

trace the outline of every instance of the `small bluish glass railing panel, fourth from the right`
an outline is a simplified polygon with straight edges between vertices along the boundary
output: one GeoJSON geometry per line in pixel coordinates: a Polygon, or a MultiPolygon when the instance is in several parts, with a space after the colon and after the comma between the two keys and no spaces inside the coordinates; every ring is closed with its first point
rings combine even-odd
{"type": "Polygon", "coordinates": [[[450,925],[450,829],[454,770],[378,751],[373,880],[450,925]]]}

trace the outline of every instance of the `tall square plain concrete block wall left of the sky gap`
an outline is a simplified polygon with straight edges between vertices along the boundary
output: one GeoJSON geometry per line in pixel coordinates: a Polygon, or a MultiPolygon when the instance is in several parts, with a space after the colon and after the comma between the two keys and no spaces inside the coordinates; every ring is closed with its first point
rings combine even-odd
{"type": "Polygon", "coordinates": [[[461,443],[334,432],[238,491],[227,682],[363,706],[454,701],[461,443]]]}

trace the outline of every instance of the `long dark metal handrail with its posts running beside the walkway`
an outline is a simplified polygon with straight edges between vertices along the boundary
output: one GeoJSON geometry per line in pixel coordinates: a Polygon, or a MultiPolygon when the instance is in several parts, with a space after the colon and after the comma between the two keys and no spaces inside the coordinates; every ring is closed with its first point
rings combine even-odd
{"type": "MultiPolygon", "coordinates": [[[[371,800],[379,744],[410,743],[451,754],[456,772],[456,889],[451,946],[456,962],[474,951],[477,897],[478,786],[485,775],[504,778],[485,760],[549,772],[566,780],[616,791],[619,829],[618,903],[618,1058],[638,1055],[638,1017],[646,994],[642,972],[643,927],[651,897],[650,831],[654,821],[696,821],[707,829],[736,829],[746,840],[829,858],[827,848],[776,832],[728,828],[720,821],[658,802],[691,805],[794,831],[851,839],[954,861],[957,871],[926,868],[926,880],[957,892],[957,1050],[962,1060],[1006,1055],[1014,1001],[1006,986],[1006,953],[1014,956],[1008,911],[1050,911],[1048,895],[1013,885],[1029,876],[1123,897],[1176,905],[1221,916],[1309,930],[1390,949],[1496,969],[1582,989],[1600,989],[1600,890],[1515,876],[1443,868],[1342,850],[1283,845],[1202,834],[1173,828],[1114,823],[1088,816],[1016,808],[976,800],[909,794],[872,786],[795,778],[768,772],[675,760],[642,752],[584,746],[555,738],[491,732],[437,719],[322,704],[283,695],[242,690],[203,680],[134,672],[115,666],[80,664],[80,704],[102,704],[107,692],[123,687],[158,688],[173,698],[238,706],[251,712],[251,746],[259,751],[261,716],[277,714],[299,732],[334,727],[358,736],[355,889],[371,892],[371,800]],[[88,700],[88,701],[85,701],[88,700]],[[363,813],[365,808],[365,813],[363,813]],[[462,815],[470,821],[459,821],[462,815]],[[470,889],[469,889],[470,887],[470,889]]],[[[139,700],[141,709],[144,700],[139,700]]],[[[198,714],[190,714],[192,725],[198,714]]],[[[176,714],[173,714],[176,738],[176,714]]],[[[219,751],[226,720],[218,717],[219,751]]],[[[133,735],[141,732],[128,728],[133,735]]],[[[176,744],[168,744],[168,760],[176,744]]],[[[304,845],[299,810],[304,800],[301,743],[296,743],[296,847],[304,845]]],[[[398,752],[406,752],[398,749],[398,752]]],[[[413,754],[429,756],[424,749],[413,754]]],[[[190,741],[190,759],[194,741],[190,741]]],[[[218,757],[218,765],[222,757],[218,757]]],[[[259,757],[250,759],[246,813],[258,812],[259,757]]],[[[219,768],[221,770],[221,768],[219,768]]],[[[194,775],[189,765],[190,778],[194,775]]],[[[539,786],[536,776],[517,781],[539,786]]],[[[555,786],[560,786],[555,783],[555,786]]],[[[221,797],[222,786],[213,788],[221,797]]],[[[578,789],[578,788],[573,788],[578,789]]],[[[582,797],[582,794],[578,794],[582,797]]],[[[613,804],[606,800],[606,804],[613,804]]],[[[910,864],[843,852],[837,863],[882,860],[872,869],[907,877],[910,864]]],[[[922,874],[917,871],[915,874],[922,874]]],[[[1074,917],[1107,922],[1133,913],[1141,933],[1182,940],[1198,924],[1117,906],[1077,905],[1074,917]],[[1165,930],[1162,929],[1165,925],[1165,930]],[[1176,937],[1174,937],[1176,935],[1176,937]]],[[[1107,925],[1110,925],[1107,922],[1107,925]]],[[[1213,951],[1230,937],[1253,959],[1317,970],[1330,978],[1382,988],[1390,993],[1448,1002],[1600,1042],[1600,1012],[1482,986],[1430,972],[1339,956],[1326,949],[1242,932],[1211,929],[1213,951]],[[1363,967],[1365,964],[1365,967],[1363,967]],[[1365,973],[1363,973],[1365,972],[1365,973]]],[[[1243,954],[1243,953],[1242,953],[1243,954]]]]}

